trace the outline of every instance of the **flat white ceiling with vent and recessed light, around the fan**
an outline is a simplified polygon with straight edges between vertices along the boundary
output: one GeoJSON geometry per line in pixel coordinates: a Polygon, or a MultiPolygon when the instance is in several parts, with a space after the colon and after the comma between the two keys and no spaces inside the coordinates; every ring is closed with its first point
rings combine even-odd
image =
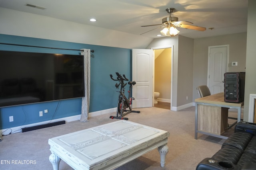
{"type": "MultiPolygon", "coordinates": [[[[172,16],[206,27],[206,31],[178,28],[190,38],[210,37],[247,31],[248,0],[0,0],[0,7],[62,20],[93,25],[140,35],[159,26],[168,17],[166,8],[175,8],[172,16]],[[32,4],[46,9],[26,6],[32,4]],[[89,21],[95,18],[96,22],[89,21]],[[214,29],[209,29],[214,27],[214,29]]],[[[142,36],[156,38],[161,28],[142,36]]]]}

